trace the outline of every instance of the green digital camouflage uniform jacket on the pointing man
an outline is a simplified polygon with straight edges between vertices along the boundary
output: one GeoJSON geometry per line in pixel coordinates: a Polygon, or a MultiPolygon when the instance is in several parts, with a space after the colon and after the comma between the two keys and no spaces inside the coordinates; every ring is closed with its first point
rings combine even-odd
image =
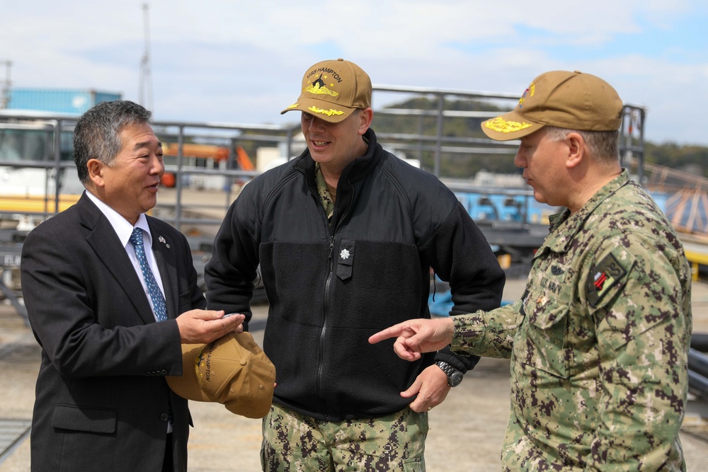
{"type": "Polygon", "coordinates": [[[627,171],[551,218],[522,299],[454,321],[452,350],[511,359],[505,470],[685,470],[690,268],[627,171]]]}

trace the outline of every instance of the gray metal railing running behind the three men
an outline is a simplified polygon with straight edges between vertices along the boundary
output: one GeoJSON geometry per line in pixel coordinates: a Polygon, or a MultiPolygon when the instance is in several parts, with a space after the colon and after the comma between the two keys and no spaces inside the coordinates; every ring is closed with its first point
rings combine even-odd
{"type": "MultiPolygon", "coordinates": [[[[455,118],[474,118],[475,120],[485,120],[489,117],[498,115],[498,111],[464,111],[450,110],[446,108],[447,103],[454,103],[448,99],[461,100],[478,100],[487,104],[508,105],[508,109],[513,108],[518,100],[518,96],[507,93],[490,93],[490,92],[473,92],[460,91],[439,88],[423,88],[423,87],[404,87],[404,86],[387,86],[375,85],[373,87],[374,105],[377,100],[384,95],[396,96],[405,99],[406,97],[428,97],[433,98],[436,103],[435,109],[408,109],[408,108],[384,108],[383,106],[376,108],[375,115],[382,116],[404,116],[404,117],[434,117],[435,129],[432,134],[426,134],[422,129],[418,132],[410,133],[387,133],[379,132],[379,142],[384,146],[389,146],[400,151],[429,151],[433,153],[433,166],[428,169],[438,178],[445,179],[441,175],[441,163],[443,155],[456,154],[476,159],[481,156],[503,156],[508,155],[510,159],[515,154],[518,142],[496,142],[486,137],[448,137],[445,133],[447,120],[455,118]]],[[[400,103],[401,100],[398,100],[400,103]]],[[[622,127],[622,156],[629,156],[629,159],[639,159],[639,175],[643,175],[643,156],[644,156],[644,108],[635,105],[625,105],[624,108],[624,123],[622,127]]],[[[50,185],[48,188],[54,188],[52,195],[45,195],[47,203],[50,200],[52,205],[47,205],[45,212],[33,213],[38,217],[47,217],[58,212],[61,209],[60,202],[62,200],[62,185],[60,179],[64,175],[63,170],[69,172],[74,168],[72,161],[62,161],[60,132],[72,132],[77,117],[75,116],[52,116],[47,113],[23,113],[21,111],[1,110],[1,122],[28,123],[40,122],[47,127],[47,132],[54,131],[52,155],[45,156],[42,161],[22,161],[22,166],[28,168],[48,168],[52,170],[55,185],[50,185]]],[[[178,143],[178,155],[176,156],[176,164],[166,166],[167,171],[174,172],[179,178],[176,178],[176,203],[173,224],[181,226],[181,224],[195,221],[185,217],[183,206],[183,183],[184,175],[220,175],[227,179],[250,179],[257,175],[257,171],[244,171],[236,167],[234,162],[234,147],[239,142],[251,142],[262,144],[264,146],[279,146],[282,148],[281,154],[285,159],[290,159],[299,151],[304,149],[304,143],[298,142],[299,125],[251,125],[238,123],[216,123],[216,122],[177,122],[164,121],[154,122],[156,134],[165,139],[176,139],[178,143]],[[229,147],[229,159],[226,168],[210,169],[199,168],[185,165],[185,156],[183,154],[183,144],[190,142],[221,142],[229,147]]],[[[16,161],[6,161],[1,159],[0,166],[18,166],[16,161]]],[[[229,187],[227,187],[229,188],[229,187]]],[[[517,189],[518,190],[518,189],[517,189]]],[[[225,192],[224,202],[231,200],[229,192],[225,192]]]]}

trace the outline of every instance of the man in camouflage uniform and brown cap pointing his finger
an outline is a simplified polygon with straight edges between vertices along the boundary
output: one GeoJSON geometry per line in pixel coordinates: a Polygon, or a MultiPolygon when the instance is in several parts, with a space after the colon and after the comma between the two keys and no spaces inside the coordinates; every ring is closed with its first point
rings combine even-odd
{"type": "Polygon", "coordinates": [[[681,471],[690,269],[675,232],[618,161],[622,100],[602,79],[552,71],[482,124],[520,139],[515,164],[551,218],[523,297],[400,323],[404,359],[451,343],[511,359],[506,471],[681,471]]]}

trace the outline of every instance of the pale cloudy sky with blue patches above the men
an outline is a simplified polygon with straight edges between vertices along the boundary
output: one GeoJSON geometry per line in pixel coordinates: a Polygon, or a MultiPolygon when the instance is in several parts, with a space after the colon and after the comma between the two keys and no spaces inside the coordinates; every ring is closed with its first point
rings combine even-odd
{"type": "Polygon", "coordinates": [[[0,66],[141,101],[144,4],[157,120],[297,122],[305,69],[344,57],[374,84],[517,96],[577,69],[647,109],[645,139],[708,146],[705,0],[0,0],[0,66]]]}

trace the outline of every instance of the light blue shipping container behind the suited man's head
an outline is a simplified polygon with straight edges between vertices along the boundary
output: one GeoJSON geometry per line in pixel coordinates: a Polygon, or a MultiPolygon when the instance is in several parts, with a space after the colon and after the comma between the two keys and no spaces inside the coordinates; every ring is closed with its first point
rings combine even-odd
{"type": "Polygon", "coordinates": [[[120,93],[92,89],[11,88],[11,110],[39,110],[81,115],[96,103],[120,100],[120,93]]]}

